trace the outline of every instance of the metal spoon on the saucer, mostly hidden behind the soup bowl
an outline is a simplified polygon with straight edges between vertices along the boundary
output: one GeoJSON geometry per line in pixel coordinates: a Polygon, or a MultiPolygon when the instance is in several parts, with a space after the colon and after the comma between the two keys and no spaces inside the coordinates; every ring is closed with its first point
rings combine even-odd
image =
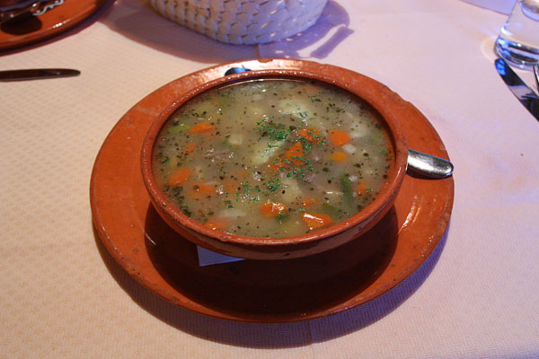
{"type": "MultiPolygon", "coordinates": [[[[245,67],[231,67],[225,75],[251,71],[245,67]]],[[[431,179],[445,179],[453,174],[453,163],[429,153],[408,149],[408,169],[431,179]]]]}

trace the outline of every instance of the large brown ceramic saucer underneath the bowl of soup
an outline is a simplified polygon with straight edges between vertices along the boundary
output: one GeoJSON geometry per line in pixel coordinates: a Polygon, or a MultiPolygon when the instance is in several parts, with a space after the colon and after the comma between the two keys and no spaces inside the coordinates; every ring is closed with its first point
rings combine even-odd
{"type": "MultiPolygon", "coordinates": [[[[112,257],[138,282],[173,304],[216,318],[266,323],[344,311],[410,276],[446,231],[453,206],[452,178],[406,175],[388,215],[357,241],[335,250],[305,258],[199,267],[195,245],[163,223],[150,204],[139,167],[140,146],[152,118],[166,106],[234,66],[302,69],[365,81],[361,74],[314,62],[249,60],[189,74],[146,96],[111,130],[93,167],[93,223],[112,257]]],[[[448,158],[427,118],[397,94],[393,99],[402,104],[393,110],[406,118],[402,127],[411,148],[448,158]]]]}

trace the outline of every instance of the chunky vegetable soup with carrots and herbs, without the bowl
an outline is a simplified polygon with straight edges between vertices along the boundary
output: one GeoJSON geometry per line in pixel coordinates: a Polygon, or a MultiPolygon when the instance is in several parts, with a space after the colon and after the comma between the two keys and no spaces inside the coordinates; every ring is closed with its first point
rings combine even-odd
{"type": "Polygon", "coordinates": [[[371,203],[393,165],[379,115],[336,87],[257,80],[176,110],[153,151],[158,186],[184,215],[245,236],[304,234],[371,203]]]}

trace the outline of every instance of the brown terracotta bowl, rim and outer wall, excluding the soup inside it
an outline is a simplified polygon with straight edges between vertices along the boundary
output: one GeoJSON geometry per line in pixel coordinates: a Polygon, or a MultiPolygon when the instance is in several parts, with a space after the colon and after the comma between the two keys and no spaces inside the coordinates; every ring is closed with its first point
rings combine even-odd
{"type": "Polygon", "coordinates": [[[149,128],[142,146],[141,168],[146,190],[151,198],[157,213],[168,223],[175,232],[184,238],[204,247],[229,256],[252,259],[285,259],[300,258],[325,250],[331,250],[340,245],[358,239],[363,233],[371,229],[386,215],[393,206],[395,197],[401,187],[406,172],[408,149],[399,118],[393,114],[394,101],[388,99],[392,96],[385,87],[368,85],[372,80],[363,77],[349,81],[347,78],[330,78],[323,74],[308,73],[296,70],[260,70],[241,74],[232,74],[204,83],[193,88],[186,95],[181,96],[163,110],[149,128]],[[183,215],[181,211],[163,195],[157,187],[152,169],[152,152],[155,139],[161,128],[172,113],[186,101],[206,92],[209,89],[238,83],[252,79],[299,79],[315,80],[328,83],[357,95],[367,101],[380,114],[386,130],[393,144],[393,164],[390,166],[388,178],[375,200],[349,219],[335,223],[327,228],[309,232],[302,235],[267,238],[235,235],[227,232],[212,230],[202,223],[196,222],[183,215]]]}

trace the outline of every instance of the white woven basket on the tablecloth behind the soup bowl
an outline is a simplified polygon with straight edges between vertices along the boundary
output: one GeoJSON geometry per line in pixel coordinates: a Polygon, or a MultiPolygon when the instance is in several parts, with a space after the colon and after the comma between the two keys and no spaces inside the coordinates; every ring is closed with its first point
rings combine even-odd
{"type": "Polygon", "coordinates": [[[172,22],[212,39],[257,44],[287,38],[314,24],[327,0],[150,0],[172,22]]]}

